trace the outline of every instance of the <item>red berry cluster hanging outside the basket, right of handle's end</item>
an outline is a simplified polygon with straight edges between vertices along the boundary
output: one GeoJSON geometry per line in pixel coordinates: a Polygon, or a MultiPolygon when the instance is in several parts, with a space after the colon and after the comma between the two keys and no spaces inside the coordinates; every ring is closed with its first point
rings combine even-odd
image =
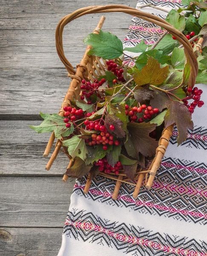
{"type": "Polygon", "coordinates": [[[183,102],[189,109],[190,113],[193,113],[196,106],[198,106],[198,108],[201,108],[204,105],[204,102],[200,100],[203,91],[201,89],[198,90],[198,87],[194,87],[193,89],[188,88],[187,91],[188,93],[191,93],[191,95],[183,99],[183,102]],[[190,99],[193,99],[194,101],[192,103],[189,103],[188,100],[190,99]]]}

